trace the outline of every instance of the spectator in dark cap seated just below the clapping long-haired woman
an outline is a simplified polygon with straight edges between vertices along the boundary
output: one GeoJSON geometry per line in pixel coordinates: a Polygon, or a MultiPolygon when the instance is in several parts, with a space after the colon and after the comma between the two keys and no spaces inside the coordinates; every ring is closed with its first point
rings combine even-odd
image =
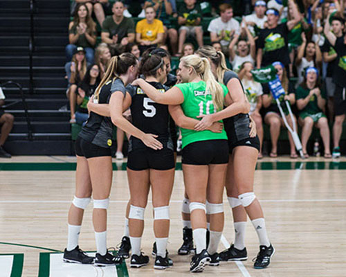
{"type": "Polygon", "coordinates": [[[77,53],[73,55],[72,61],[65,64],[65,71],[69,80],[66,95],[70,101],[71,119],[70,123],[75,123],[75,103],[77,100],[76,91],[78,84],[83,80],[86,73],[85,51],[82,47],[77,48],[77,53]]]}

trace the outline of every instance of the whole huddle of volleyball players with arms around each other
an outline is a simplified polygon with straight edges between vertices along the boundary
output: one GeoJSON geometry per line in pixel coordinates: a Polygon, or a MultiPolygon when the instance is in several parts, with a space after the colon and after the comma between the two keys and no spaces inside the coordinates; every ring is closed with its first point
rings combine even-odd
{"type": "Polygon", "coordinates": [[[178,253],[194,253],[190,262],[192,272],[203,271],[206,265],[217,266],[220,261],[246,260],[248,216],[260,242],[254,267],[263,269],[269,265],[274,248],[268,240],[260,202],[253,193],[260,141],[248,116],[250,105],[242,83],[227,69],[224,54],[211,46],[202,46],[194,55],[181,58],[176,77],[169,72],[170,55],[162,48],[149,48],[140,62],[131,53],[111,58],[88,103],[89,118],[75,142],[76,189],[63,259],[107,266],[130,257],[131,267],[147,265],[149,256],[140,251],[140,246],[151,187],[154,269],[173,265],[167,241],[177,125],[182,135],[185,184],[181,208],[183,245],[178,253]],[[123,115],[128,109],[131,120],[123,115]],[[107,250],[113,125],[130,136],[127,160],[130,199],[125,232],[116,256],[107,250]],[[225,186],[233,211],[235,239],[229,249],[217,253],[224,229],[225,186]],[[95,258],[87,256],[78,246],[84,209],[91,196],[95,258]]]}

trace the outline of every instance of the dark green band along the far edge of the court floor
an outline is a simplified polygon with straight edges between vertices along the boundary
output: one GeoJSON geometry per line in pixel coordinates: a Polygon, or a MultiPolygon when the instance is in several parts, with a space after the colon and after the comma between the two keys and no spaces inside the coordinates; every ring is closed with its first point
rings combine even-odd
{"type": "MultiPolygon", "coordinates": [[[[113,163],[113,170],[126,170],[127,163],[113,163]]],[[[0,163],[0,171],[75,171],[76,163],[0,163]]],[[[176,163],[176,170],[181,170],[176,163]]],[[[262,161],[257,170],[346,170],[346,161],[262,161]]]]}

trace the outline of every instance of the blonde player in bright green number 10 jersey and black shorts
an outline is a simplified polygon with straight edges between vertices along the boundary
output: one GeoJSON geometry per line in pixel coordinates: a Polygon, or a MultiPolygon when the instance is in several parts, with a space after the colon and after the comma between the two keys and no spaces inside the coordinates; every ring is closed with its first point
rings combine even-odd
{"type": "Polygon", "coordinates": [[[193,127],[199,122],[195,119],[197,116],[222,109],[228,90],[216,82],[208,60],[197,55],[181,59],[178,75],[183,84],[176,84],[166,93],[158,93],[145,80],[138,79],[133,84],[139,85],[155,102],[177,105],[170,107],[170,113],[177,125],[182,127],[183,175],[185,190],[190,198],[192,229],[197,247],[191,260],[190,271],[199,272],[203,271],[205,265],[212,260],[208,251],[216,253],[224,226],[222,193],[228,163],[228,143],[223,128],[221,133],[213,133],[208,130],[195,132],[193,127]],[[207,197],[207,205],[212,211],[210,229],[213,231],[210,234],[208,251],[206,249],[207,197]]]}

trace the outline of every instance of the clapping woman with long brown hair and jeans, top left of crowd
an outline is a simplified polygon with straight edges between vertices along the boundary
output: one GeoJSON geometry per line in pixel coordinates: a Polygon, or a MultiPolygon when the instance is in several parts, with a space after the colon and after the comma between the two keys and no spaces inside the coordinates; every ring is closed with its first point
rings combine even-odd
{"type": "Polygon", "coordinates": [[[73,21],[69,24],[69,42],[66,46],[67,62],[70,62],[77,47],[83,47],[86,60],[93,62],[93,47],[96,43],[96,24],[91,19],[86,4],[80,3],[75,9],[73,21]]]}

